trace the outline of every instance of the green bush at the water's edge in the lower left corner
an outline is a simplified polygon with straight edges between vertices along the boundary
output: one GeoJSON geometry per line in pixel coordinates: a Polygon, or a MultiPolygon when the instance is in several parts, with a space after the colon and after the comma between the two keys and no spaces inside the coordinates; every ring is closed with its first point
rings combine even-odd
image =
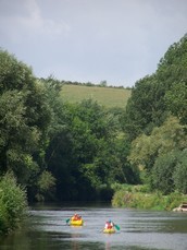
{"type": "Polygon", "coordinates": [[[20,227],[27,212],[26,192],[21,188],[13,174],[0,179],[0,234],[20,227]]]}

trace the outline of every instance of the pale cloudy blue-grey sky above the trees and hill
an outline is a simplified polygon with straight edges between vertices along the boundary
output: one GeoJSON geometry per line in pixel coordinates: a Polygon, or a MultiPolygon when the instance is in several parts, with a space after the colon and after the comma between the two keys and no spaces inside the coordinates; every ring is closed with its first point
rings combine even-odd
{"type": "Polygon", "coordinates": [[[134,86],[187,33],[187,0],[0,0],[0,47],[37,78],[134,86]]]}

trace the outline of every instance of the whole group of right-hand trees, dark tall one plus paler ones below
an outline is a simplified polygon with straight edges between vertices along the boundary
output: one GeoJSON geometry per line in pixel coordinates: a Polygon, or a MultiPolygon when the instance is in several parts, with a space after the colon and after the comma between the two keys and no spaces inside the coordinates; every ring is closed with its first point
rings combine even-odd
{"type": "Polygon", "coordinates": [[[153,75],[133,88],[123,129],[144,183],[163,194],[187,193],[187,36],[172,45],[153,75]]]}

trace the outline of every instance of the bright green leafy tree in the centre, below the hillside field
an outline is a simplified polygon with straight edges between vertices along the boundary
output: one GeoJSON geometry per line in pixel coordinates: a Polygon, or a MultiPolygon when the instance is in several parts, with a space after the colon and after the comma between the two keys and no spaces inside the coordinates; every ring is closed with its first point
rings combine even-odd
{"type": "Polygon", "coordinates": [[[80,172],[100,198],[109,199],[113,183],[136,181],[123,147],[127,144],[120,136],[119,117],[91,99],[84,100],[75,114],[73,145],[80,172]]]}

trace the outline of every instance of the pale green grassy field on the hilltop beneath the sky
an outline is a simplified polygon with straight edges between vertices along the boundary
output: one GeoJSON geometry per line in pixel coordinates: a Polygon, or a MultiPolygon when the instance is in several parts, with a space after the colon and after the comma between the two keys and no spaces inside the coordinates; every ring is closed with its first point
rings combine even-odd
{"type": "Polygon", "coordinates": [[[98,104],[108,108],[126,106],[132,91],[114,87],[64,85],[62,87],[62,97],[70,103],[80,103],[83,99],[94,99],[98,104]]]}

